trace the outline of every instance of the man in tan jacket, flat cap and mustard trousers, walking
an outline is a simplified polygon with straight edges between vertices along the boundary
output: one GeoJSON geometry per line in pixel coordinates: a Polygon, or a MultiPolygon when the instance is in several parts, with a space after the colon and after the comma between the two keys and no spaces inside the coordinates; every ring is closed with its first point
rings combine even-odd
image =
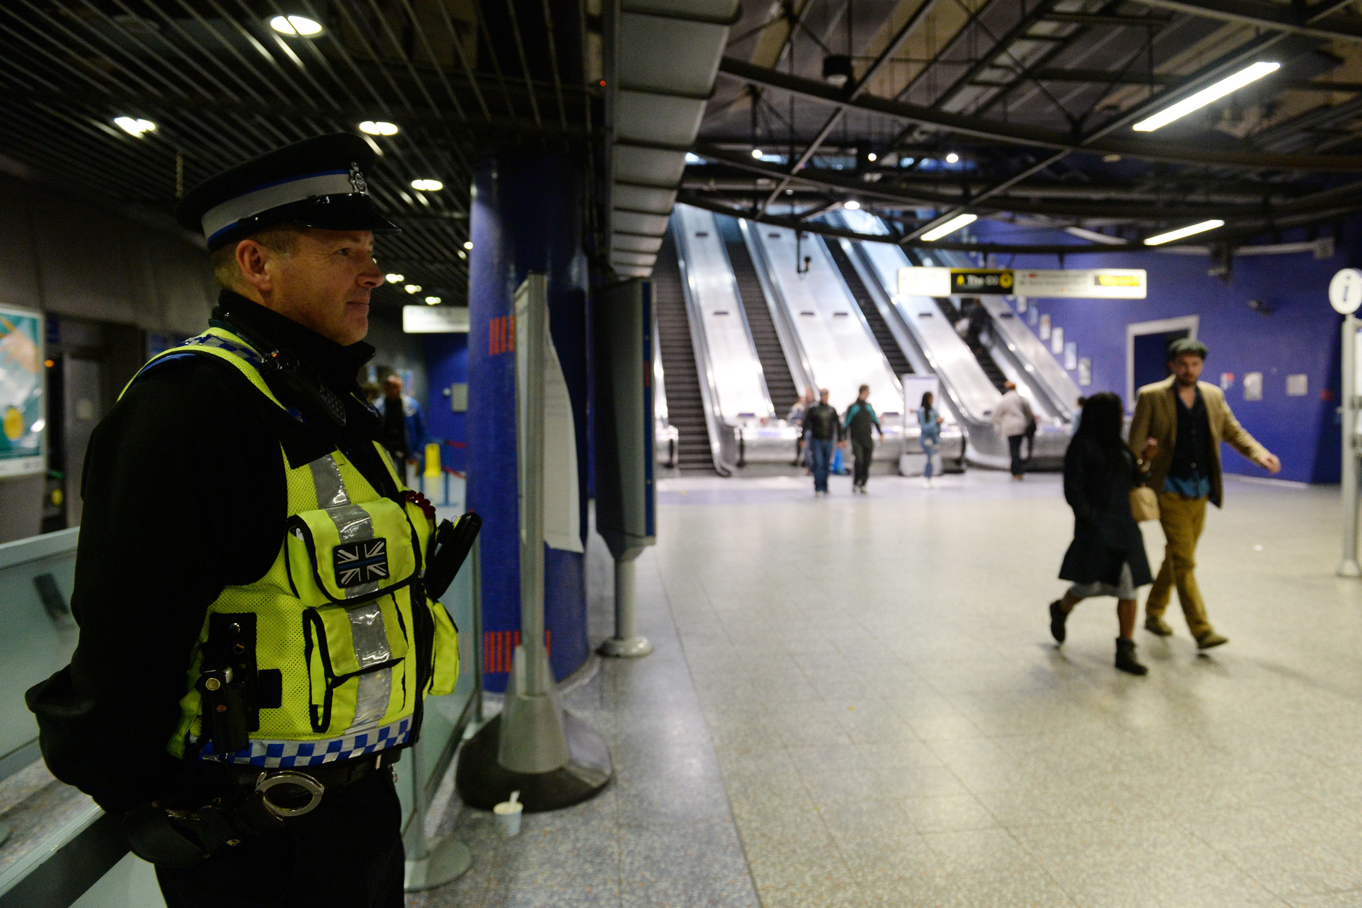
{"type": "Polygon", "coordinates": [[[1220,442],[1253,463],[1278,472],[1282,461],[1250,436],[1230,412],[1224,392],[1197,381],[1205,365],[1205,344],[1179,338],[1169,344],[1169,369],[1163,381],[1140,388],[1130,422],[1130,448],[1139,452],[1152,442],[1150,487],[1159,496],[1159,523],[1167,539],[1163,566],[1144,602],[1144,629],[1160,637],[1173,633],[1163,621],[1173,587],[1196,637],[1199,649],[1229,643],[1215,633],[1205,617],[1205,603],[1197,589],[1196,543],[1205,525],[1205,502],[1220,506],[1220,442]]]}

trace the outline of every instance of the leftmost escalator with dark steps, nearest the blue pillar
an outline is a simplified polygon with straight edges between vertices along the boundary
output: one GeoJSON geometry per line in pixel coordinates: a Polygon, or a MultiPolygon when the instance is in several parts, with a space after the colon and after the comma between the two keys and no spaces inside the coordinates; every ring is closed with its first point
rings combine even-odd
{"type": "Polygon", "coordinates": [[[700,396],[700,376],[695,368],[695,350],[691,346],[691,320],[686,316],[681,268],[677,265],[677,252],[670,231],[662,241],[658,263],[652,270],[652,301],[658,317],[662,374],[667,383],[667,422],[676,426],[678,433],[677,467],[714,470],[710,432],[704,422],[704,400],[700,396]]]}

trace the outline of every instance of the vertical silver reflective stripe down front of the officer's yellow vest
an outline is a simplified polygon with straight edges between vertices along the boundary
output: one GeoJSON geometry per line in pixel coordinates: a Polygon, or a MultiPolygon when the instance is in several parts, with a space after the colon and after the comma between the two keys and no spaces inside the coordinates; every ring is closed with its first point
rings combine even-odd
{"type": "MultiPolygon", "coordinates": [[[[308,464],[308,468],[312,471],[317,504],[335,523],[340,542],[373,539],[373,519],[364,508],[350,504],[350,493],[346,491],[345,479],[340,476],[340,467],[335,457],[331,455],[317,457],[308,464]]],[[[365,596],[377,588],[377,581],[350,587],[346,589],[346,598],[365,596]]],[[[354,606],[347,610],[347,617],[350,618],[350,637],[354,640],[354,660],[361,670],[392,658],[387,628],[383,623],[383,610],[377,602],[354,606]]],[[[381,720],[383,715],[388,712],[388,701],[392,697],[391,668],[360,675],[355,681],[358,689],[354,694],[354,721],[350,723],[347,731],[355,731],[381,720]]]]}

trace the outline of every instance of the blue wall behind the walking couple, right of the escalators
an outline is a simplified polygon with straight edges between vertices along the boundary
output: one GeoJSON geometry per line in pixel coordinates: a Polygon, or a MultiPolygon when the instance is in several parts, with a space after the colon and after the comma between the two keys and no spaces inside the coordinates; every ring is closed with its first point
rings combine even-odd
{"type": "MultiPolygon", "coordinates": [[[[989,225],[981,240],[1016,241],[1005,225],[989,225]]],[[[1283,242],[1303,238],[1287,234],[1283,242]]],[[[1050,234],[1031,242],[1081,242],[1050,234]]],[[[1269,242],[1267,240],[1260,242],[1269,242]]],[[[1328,304],[1333,274],[1359,261],[1358,225],[1346,225],[1335,256],[1313,253],[1249,256],[1234,261],[1231,280],[1207,275],[1207,256],[1159,252],[1069,256],[1069,268],[1144,268],[1150,276],[1147,299],[1031,299],[1064,339],[1077,344],[1077,355],[1092,361],[1092,384],[1086,392],[1114,391],[1122,398],[1126,369],[1126,325],[1130,323],[1199,316],[1197,336],[1211,350],[1203,380],[1220,384],[1234,373],[1226,399],[1258,441],[1282,459],[1282,479],[1339,481],[1339,324],[1328,304]],[[1272,308],[1271,314],[1249,309],[1249,299],[1272,308]],[[1263,400],[1244,399],[1244,374],[1263,373],[1263,400]],[[1305,373],[1309,393],[1286,395],[1286,377],[1305,373]]],[[[1057,256],[998,256],[1000,267],[1056,268],[1057,256]]],[[[1024,316],[1030,324],[1030,313],[1024,316]]],[[[1035,328],[1032,328],[1035,331],[1035,328]]],[[[1062,358],[1061,358],[1062,363],[1062,358]]],[[[1077,370],[1069,374],[1077,381],[1077,370]]],[[[1133,406],[1126,400],[1126,407],[1133,406]]],[[[1227,472],[1267,476],[1265,470],[1226,448],[1227,472]]]]}

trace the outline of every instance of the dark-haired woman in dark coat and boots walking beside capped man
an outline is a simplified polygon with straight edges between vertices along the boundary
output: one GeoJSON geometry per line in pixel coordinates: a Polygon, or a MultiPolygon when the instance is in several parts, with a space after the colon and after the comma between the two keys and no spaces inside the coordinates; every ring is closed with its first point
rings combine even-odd
{"type": "Polygon", "coordinates": [[[1061,580],[1073,585],[1050,603],[1050,633],[1064,643],[1064,622],[1073,606],[1088,596],[1115,596],[1121,636],[1115,638],[1115,667],[1132,675],[1148,668],[1135,656],[1139,587],[1154,583],[1144,557],[1140,524],[1130,516],[1130,490],[1144,482],[1150,448],[1139,460],[1121,440],[1121,398],[1103,392],[1083,404],[1079,432],[1064,456],[1064,498],[1073,508],[1073,542],[1064,554],[1061,580]]]}

